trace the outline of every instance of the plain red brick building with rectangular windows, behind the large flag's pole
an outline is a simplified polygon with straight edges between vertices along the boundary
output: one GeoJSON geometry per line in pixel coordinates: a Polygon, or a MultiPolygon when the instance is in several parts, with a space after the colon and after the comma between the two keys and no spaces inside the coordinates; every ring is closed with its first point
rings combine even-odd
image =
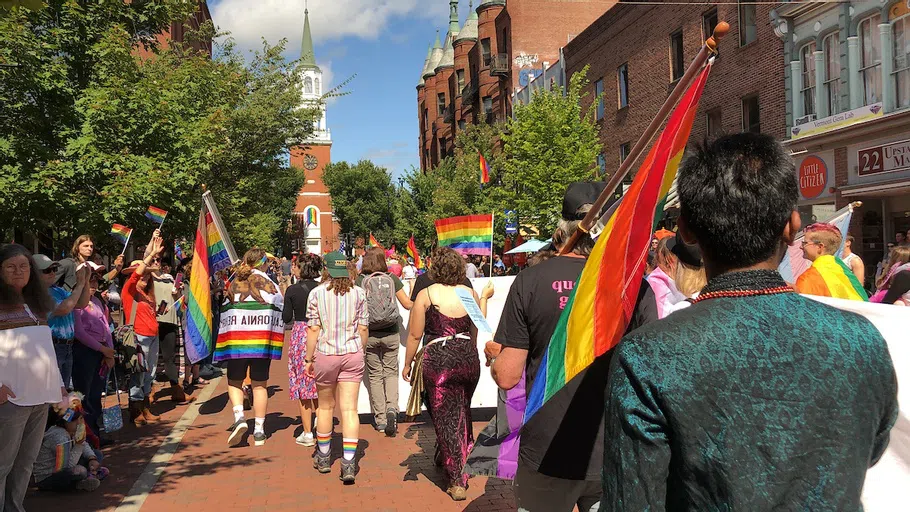
{"type": "Polygon", "coordinates": [[[590,66],[583,106],[603,93],[596,116],[605,175],[619,168],[719,21],[730,31],[691,140],[746,130],[786,136],[783,44],[768,23],[771,7],[619,3],[566,45],[566,77],[590,66]]]}

